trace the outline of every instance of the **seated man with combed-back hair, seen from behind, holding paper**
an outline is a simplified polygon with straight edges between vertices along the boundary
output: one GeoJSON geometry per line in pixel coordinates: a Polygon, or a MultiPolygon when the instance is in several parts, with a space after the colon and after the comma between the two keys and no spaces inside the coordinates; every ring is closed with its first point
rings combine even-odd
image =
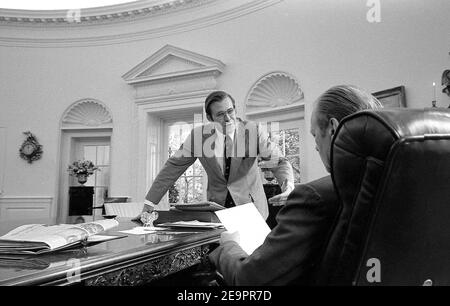
{"type": "MultiPolygon", "coordinates": [[[[339,122],[360,110],[379,107],[375,97],[350,85],[332,87],[317,99],[311,134],[328,172],[339,122]]],[[[209,258],[227,285],[309,284],[340,205],[330,176],[298,185],[279,211],[277,226],[250,256],[237,243],[236,233],[224,232],[209,258]]]]}

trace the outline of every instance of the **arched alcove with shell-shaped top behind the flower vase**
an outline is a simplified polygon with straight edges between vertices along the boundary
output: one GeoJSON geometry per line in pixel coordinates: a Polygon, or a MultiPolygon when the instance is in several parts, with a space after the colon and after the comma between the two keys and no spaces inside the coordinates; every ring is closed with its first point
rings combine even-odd
{"type": "MultiPolygon", "coordinates": [[[[93,189],[92,207],[101,207],[109,192],[111,173],[110,151],[113,118],[108,107],[101,101],[84,98],[72,103],[60,120],[60,167],[58,180],[57,222],[74,222],[80,216],[71,214],[69,193],[79,187],[77,180],[67,173],[69,164],[79,159],[88,159],[100,168],[85,184],[93,189]]],[[[84,188],[88,189],[88,188],[84,188]]],[[[101,210],[92,209],[92,219],[101,215],[101,210]]],[[[82,215],[85,221],[90,215],[82,215]]],[[[97,217],[98,218],[98,217],[97,217]]]]}

